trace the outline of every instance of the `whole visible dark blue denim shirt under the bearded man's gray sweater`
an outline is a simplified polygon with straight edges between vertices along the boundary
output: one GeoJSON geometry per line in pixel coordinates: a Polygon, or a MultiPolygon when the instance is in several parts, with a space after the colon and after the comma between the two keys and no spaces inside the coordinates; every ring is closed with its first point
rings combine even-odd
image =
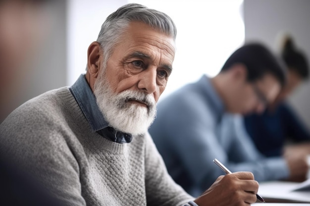
{"type": "Polygon", "coordinates": [[[96,97],[88,85],[88,82],[86,81],[85,75],[81,75],[69,89],[79,104],[93,132],[97,132],[104,138],[113,142],[131,142],[131,134],[117,131],[110,127],[109,124],[105,121],[103,114],[97,105],[96,97]]]}

